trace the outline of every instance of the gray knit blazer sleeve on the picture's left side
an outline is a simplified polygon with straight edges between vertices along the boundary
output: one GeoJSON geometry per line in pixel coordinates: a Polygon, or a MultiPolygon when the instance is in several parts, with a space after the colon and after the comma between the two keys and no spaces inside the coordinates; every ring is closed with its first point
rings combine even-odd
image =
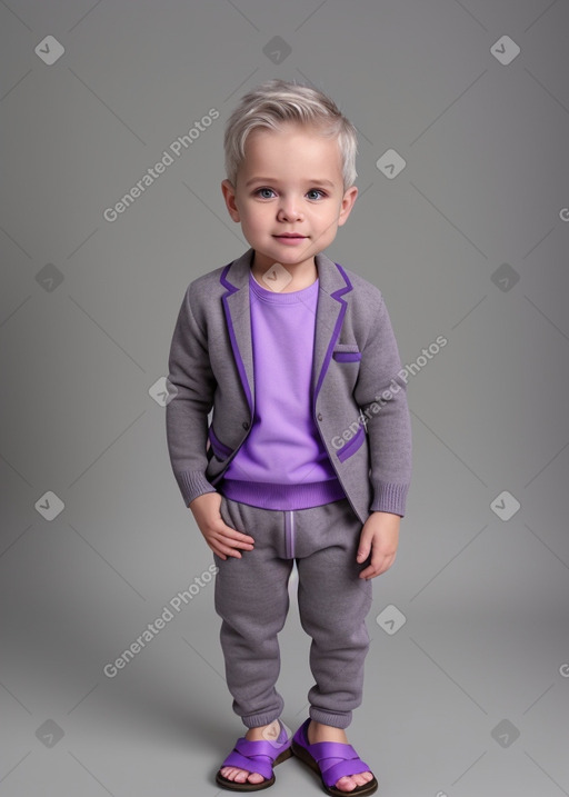
{"type": "Polygon", "coordinates": [[[206,478],[208,415],[213,406],[216,379],[207,336],[192,312],[192,299],[190,285],[170,346],[166,407],[168,452],[186,506],[204,492],[216,492],[206,478]]]}

